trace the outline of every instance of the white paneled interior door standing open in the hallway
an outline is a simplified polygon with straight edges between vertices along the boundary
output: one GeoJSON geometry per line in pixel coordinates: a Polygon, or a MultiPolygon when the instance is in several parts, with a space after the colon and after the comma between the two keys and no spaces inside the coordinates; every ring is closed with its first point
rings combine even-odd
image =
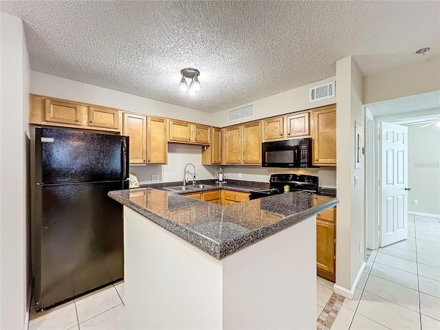
{"type": "Polygon", "coordinates": [[[408,127],[380,123],[380,246],[408,237],[408,127]]]}

